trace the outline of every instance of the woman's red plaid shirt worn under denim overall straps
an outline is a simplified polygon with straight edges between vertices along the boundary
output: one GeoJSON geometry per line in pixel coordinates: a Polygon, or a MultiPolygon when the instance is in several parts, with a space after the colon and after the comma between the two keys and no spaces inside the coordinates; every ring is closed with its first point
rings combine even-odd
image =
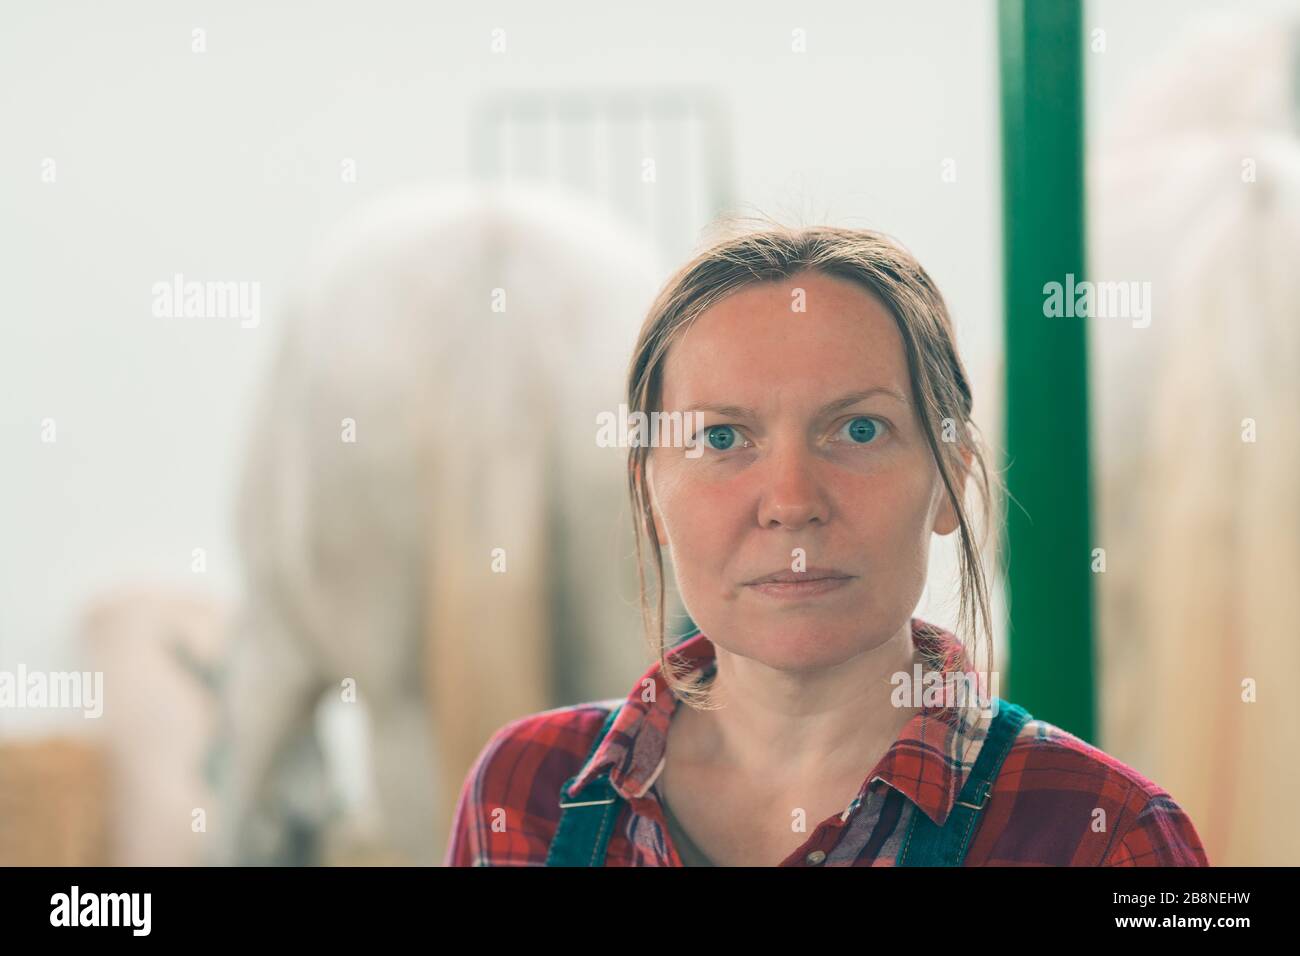
{"type": "MultiPolygon", "coordinates": [[[[961,643],[914,618],[913,644],[967,671],[961,643]]],[[[702,633],[671,653],[714,663],[702,633]]],[[[937,658],[936,658],[937,659],[937,658]]],[[[584,766],[618,700],[530,714],[497,731],[465,779],[447,849],[448,866],[542,866],[559,825],[563,783],[573,791],[610,767],[627,800],[606,866],[681,866],[653,790],[679,701],[658,662],[623,701],[599,750],[584,766]],[[645,682],[655,689],[646,692],[645,682]],[[645,700],[650,697],[651,700],[645,700]]],[[[781,866],[893,866],[913,813],[942,826],[988,728],[987,709],[923,708],[867,774],[840,814],[822,821],[781,866]],[[972,713],[967,719],[963,714],[972,713]],[[822,851],[809,860],[814,851],[822,851]]],[[[1045,721],[1015,739],[980,813],[966,866],[1209,866],[1192,821],[1161,787],[1045,721]],[[1104,810],[1104,816],[1098,813],[1104,810]]]]}

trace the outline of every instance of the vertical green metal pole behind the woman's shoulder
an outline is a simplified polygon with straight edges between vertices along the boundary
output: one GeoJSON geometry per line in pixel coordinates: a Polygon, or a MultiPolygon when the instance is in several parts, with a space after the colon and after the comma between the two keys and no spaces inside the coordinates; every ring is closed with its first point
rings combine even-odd
{"type": "Polygon", "coordinates": [[[1087,329],[1044,315],[1084,278],[1082,0],[1000,0],[1008,693],[1095,735],[1087,329]]]}

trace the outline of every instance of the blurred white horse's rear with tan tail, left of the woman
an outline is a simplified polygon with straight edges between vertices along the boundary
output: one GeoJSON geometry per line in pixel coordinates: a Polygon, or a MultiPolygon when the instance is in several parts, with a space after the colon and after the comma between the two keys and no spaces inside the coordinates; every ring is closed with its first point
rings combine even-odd
{"type": "Polygon", "coordinates": [[[365,705],[385,848],[436,864],[493,731],[649,665],[627,450],[595,436],[658,278],[594,207],[517,187],[398,195],[322,245],[239,493],[217,861],[320,858],[325,695],[365,705]]]}

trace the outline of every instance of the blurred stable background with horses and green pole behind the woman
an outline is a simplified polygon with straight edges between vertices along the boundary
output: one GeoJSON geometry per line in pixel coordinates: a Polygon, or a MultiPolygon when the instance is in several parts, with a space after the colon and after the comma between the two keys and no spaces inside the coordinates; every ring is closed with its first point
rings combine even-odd
{"type": "Polygon", "coordinates": [[[594,416],[724,215],[918,256],[1002,696],[1300,862],[1300,0],[3,17],[0,865],[441,861],[494,730],[651,663],[594,416]]]}

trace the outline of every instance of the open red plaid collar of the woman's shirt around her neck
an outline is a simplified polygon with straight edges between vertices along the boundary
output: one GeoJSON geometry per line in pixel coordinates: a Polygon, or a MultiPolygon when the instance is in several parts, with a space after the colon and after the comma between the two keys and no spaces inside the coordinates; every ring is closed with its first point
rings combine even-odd
{"type": "MultiPolygon", "coordinates": [[[[945,672],[971,670],[966,649],[952,632],[913,618],[911,636],[923,671],[937,669],[940,661],[945,672]]],[[[715,666],[714,644],[703,633],[688,636],[670,654],[684,661],[692,672],[715,666]]],[[[668,723],[679,702],[655,662],[623,701],[614,726],[578,773],[569,796],[606,770],[624,800],[645,796],[662,769],[668,723]]],[[[920,710],[863,780],[842,818],[848,819],[879,782],[893,787],[942,826],[988,731],[987,704],[983,696],[954,706],[926,704],[923,697],[920,710]]]]}

